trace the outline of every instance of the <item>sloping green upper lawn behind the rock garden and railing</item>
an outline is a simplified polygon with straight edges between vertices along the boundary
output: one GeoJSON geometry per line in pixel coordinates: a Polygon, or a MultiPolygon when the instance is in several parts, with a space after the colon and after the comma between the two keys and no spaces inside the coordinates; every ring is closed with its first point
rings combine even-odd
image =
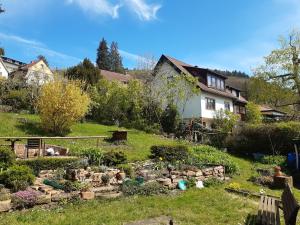
{"type": "MultiPolygon", "coordinates": [[[[39,117],[36,115],[14,114],[14,113],[0,113],[0,136],[41,136],[46,135],[39,127],[39,117]],[[26,119],[27,122],[19,122],[26,119]],[[3,122],[5,121],[5,122],[3,122]]],[[[111,136],[111,131],[118,129],[116,126],[105,126],[92,122],[78,123],[71,128],[71,133],[68,136],[94,136],[107,135],[111,136]]],[[[68,147],[70,151],[74,152],[78,148],[94,147],[96,140],[60,140],[47,141],[68,147]]],[[[138,130],[129,130],[128,142],[126,145],[114,145],[102,140],[100,145],[105,151],[111,149],[125,150],[126,155],[130,161],[146,159],[150,153],[150,147],[154,144],[172,144],[175,141],[163,138],[154,134],[147,134],[138,130]]],[[[0,141],[0,144],[8,144],[5,141],[0,141]]]]}

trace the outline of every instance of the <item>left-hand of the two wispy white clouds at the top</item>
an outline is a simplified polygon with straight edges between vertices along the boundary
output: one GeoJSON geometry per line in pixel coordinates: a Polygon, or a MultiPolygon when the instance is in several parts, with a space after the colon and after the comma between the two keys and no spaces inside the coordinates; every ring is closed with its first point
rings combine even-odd
{"type": "Polygon", "coordinates": [[[112,18],[119,17],[121,4],[112,4],[108,0],[67,0],[67,3],[78,4],[84,11],[99,15],[109,15],[112,18]]]}

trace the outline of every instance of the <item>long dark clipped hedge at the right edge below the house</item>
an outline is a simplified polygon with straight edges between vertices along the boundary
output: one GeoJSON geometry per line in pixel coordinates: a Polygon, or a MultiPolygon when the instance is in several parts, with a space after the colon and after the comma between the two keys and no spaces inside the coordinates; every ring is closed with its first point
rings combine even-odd
{"type": "Polygon", "coordinates": [[[227,139],[230,151],[241,154],[287,155],[294,150],[293,139],[300,133],[300,122],[247,124],[227,139]]]}

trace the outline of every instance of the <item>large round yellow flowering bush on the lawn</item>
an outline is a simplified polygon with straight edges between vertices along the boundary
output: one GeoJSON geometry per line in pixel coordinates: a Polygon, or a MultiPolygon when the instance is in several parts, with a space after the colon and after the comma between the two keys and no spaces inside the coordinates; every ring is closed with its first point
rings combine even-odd
{"type": "Polygon", "coordinates": [[[38,100],[42,126],[55,135],[64,135],[86,114],[89,104],[88,95],[74,81],[44,84],[38,100]]]}

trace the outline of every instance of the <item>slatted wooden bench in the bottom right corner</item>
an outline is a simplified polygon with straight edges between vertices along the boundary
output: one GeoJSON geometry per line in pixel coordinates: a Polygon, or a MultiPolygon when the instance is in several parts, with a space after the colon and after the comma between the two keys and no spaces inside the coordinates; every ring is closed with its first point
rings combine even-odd
{"type": "Polygon", "coordinates": [[[283,210],[286,225],[296,225],[299,204],[289,185],[285,187],[281,200],[274,197],[261,196],[256,224],[279,225],[279,209],[283,210]]]}

